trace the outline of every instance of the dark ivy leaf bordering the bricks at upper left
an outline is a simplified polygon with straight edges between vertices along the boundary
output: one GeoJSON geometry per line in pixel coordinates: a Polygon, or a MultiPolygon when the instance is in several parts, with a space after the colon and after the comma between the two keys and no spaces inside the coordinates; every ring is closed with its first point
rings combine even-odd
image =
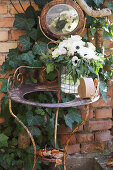
{"type": "Polygon", "coordinates": [[[23,44],[23,47],[22,47],[23,50],[30,49],[30,46],[32,45],[32,43],[30,42],[30,38],[27,35],[20,36],[19,41],[21,44],[23,44]]]}

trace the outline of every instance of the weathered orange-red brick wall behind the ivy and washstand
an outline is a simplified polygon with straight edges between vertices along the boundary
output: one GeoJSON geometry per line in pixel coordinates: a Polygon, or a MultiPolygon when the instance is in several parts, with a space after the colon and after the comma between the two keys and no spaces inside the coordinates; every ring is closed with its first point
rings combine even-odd
{"type": "MultiPolygon", "coordinates": [[[[18,1],[13,1],[19,12],[23,12],[18,1]]],[[[28,7],[28,1],[23,0],[24,8],[28,7]]],[[[34,5],[35,9],[38,9],[34,5]]],[[[0,0],[0,65],[7,57],[11,48],[17,47],[17,40],[25,31],[13,28],[15,9],[9,0],[0,0]]],[[[110,16],[113,21],[113,17],[110,16]]],[[[113,47],[113,42],[106,41],[106,51],[112,53],[109,48],[113,47]]],[[[0,79],[3,78],[0,75],[0,79]]],[[[0,81],[1,86],[1,81],[0,81]]],[[[88,153],[103,151],[107,148],[111,140],[110,129],[112,128],[112,109],[110,107],[112,87],[107,93],[107,103],[102,98],[90,105],[89,120],[75,134],[75,143],[70,143],[68,153],[88,153]]],[[[0,93],[0,99],[4,94],[0,93]]],[[[85,117],[85,108],[78,107],[82,118],[85,117]]]]}

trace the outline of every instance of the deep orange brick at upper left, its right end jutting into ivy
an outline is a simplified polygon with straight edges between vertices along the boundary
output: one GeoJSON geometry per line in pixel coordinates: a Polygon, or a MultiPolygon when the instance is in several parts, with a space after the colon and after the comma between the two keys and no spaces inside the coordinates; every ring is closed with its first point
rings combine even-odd
{"type": "Polygon", "coordinates": [[[18,40],[19,36],[25,34],[24,30],[11,30],[11,40],[18,40]]]}

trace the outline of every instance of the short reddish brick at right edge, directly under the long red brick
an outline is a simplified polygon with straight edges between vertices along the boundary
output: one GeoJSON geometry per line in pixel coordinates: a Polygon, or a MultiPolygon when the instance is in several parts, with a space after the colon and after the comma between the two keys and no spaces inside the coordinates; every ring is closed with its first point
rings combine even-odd
{"type": "Polygon", "coordinates": [[[111,138],[111,135],[110,135],[109,130],[95,133],[95,140],[96,141],[99,141],[99,142],[108,141],[108,140],[110,140],[110,138],[111,138]]]}

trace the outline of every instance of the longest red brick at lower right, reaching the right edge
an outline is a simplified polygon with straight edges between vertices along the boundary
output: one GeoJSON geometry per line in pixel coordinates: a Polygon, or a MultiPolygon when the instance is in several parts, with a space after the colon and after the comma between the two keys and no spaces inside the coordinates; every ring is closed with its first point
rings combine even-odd
{"type": "Polygon", "coordinates": [[[85,131],[108,130],[111,129],[111,127],[112,127],[111,119],[87,121],[84,125],[85,131]]]}

